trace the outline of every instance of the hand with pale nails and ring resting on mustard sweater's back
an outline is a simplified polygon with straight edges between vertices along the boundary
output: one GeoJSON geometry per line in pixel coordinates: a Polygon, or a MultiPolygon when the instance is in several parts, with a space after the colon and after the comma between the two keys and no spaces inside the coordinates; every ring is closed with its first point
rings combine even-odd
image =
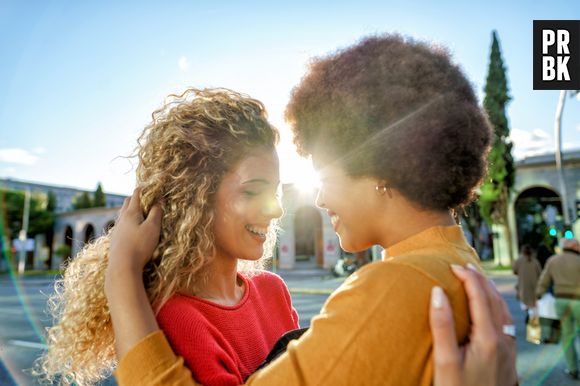
{"type": "Polygon", "coordinates": [[[503,333],[512,324],[499,292],[480,273],[455,268],[469,298],[469,342],[458,347],[453,314],[441,289],[433,289],[430,309],[435,385],[507,385],[518,383],[516,341],[503,333]]]}

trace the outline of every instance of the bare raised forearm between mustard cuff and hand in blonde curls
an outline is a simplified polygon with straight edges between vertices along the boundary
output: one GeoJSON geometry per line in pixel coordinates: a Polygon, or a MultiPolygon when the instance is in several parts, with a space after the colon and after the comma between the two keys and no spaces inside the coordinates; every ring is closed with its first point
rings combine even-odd
{"type": "Polygon", "coordinates": [[[117,359],[159,329],[140,272],[109,267],[105,293],[115,332],[117,359]]]}

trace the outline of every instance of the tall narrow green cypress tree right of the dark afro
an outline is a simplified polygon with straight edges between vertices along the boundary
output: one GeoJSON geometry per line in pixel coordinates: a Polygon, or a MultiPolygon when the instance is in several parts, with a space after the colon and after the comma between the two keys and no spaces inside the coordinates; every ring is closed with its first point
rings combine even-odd
{"type": "Polygon", "coordinates": [[[488,158],[488,175],[481,187],[479,209],[482,217],[488,223],[505,226],[509,258],[510,261],[513,261],[511,230],[508,226],[508,203],[515,180],[515,166],[506,116],[506,105],[511,98],[496,31],[493,31],[492,34],[491,54],[484,91],[483,108],[487,112],[495,135],[488,158]]]}

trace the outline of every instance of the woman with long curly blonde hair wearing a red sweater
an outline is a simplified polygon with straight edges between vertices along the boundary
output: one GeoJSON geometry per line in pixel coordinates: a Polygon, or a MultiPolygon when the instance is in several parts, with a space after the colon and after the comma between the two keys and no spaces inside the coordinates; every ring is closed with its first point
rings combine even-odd
{"type": "MultiPolygon", "coordinates": [[[[283,281],[259,270],[282,215],[278,132],[259,101],[226,89],[172,95],[152,118],[138,140],[132,200],[162,224],[141,235],[144,247],[157,245],[143,274],[148,301],[196,379],[242,383],[298,327],[283,281]]],[[[55,324],[38,364],[50,381],[92,384],[115,366],[106,294],[130,291],[106,285],[115,275],[107,266],[117,226],[85,246],[56,284],[55,324]]]]}

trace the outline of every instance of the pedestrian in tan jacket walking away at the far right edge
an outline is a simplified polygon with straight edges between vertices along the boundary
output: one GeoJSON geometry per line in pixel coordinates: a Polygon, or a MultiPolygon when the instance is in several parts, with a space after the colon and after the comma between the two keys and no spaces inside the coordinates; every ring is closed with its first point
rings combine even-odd
{"type": "Polygon", "coordinates": [[[538,282],[537,295],[553,286],[556,314],[560,319],[561,344],[566,359],[566,373],[578,379],[578,353],[574,346],[580,330],[580,243],[562,239],[562,252],[548,259],[538,282]]]}

